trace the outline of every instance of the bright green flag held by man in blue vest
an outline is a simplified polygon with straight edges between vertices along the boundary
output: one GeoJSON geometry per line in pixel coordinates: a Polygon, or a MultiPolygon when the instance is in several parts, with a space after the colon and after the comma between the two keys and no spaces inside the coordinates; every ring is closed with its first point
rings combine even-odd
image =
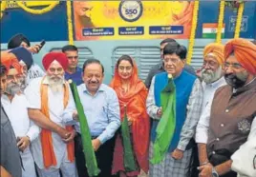
{"type": "Polygon", "coordinates": [[[168,84],[160,92],[162,115],[156,129],[157,136],[153,144],[152,164],[159,164],[168,151],[176,126],[176,88],[173,78],[168,78],[168,84]]]}

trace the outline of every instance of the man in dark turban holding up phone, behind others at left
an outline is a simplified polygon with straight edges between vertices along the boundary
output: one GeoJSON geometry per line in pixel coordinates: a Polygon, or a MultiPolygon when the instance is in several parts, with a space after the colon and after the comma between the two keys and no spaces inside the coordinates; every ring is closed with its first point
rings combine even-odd
{"type": "MultiPolygon", "coordinates": [[[[8,49],[15,49],[18,47],[28,49],[32,53],[38,53],[38,51],[42,48],[42,46],[40,46],[38,44],[31,46],[29,39],[24,34],[21,34],[21,33],[13,35],[11,37],[10,41],[8,42],[8,49]]],[[[21,54],[19,54],[19,53],[22,51],[24,51],[24,50],[17,49],[17,50],[14,50],[13,53],[16,56],[17,56],[17,54],[20,56],[21,54]]],[[[19,58],[19,56],[17,56],[17,57],[19,58]]],[[[24,52],[23,52],[23,56],[24,56],[24,52]]],[[[28,56],[28,54],[26,54],[26,56],[28,56]]],[[[30,57],[32,57],[32,56],[30,56],[30,57]]],[[[28,75],[27,75],[27,80],[26,80],[26,82],[28,84],[31,82],[32,79],[37,78],[37,77],[42,77],[45,75],[44,70],[41,69],[37,64],[33,63],[32,61],[28,61],[29,58],[27,58],[25,60],[27,60],[27,64],[29,64],[28,67],[30,68],[30,69],[28,68],[28,75]],[[30,65],[31,65],[31,67],[30,67],[30,65]]],[[[26,62],[24,61],[24,63],[26,63],[26,62]]]]}

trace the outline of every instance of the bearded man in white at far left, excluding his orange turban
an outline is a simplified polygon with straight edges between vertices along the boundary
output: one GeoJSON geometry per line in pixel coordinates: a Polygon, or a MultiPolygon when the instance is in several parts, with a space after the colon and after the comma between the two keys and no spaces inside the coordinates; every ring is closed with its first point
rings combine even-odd
{"type": "MultiPolygon", "coordinates": [[[[17,67],[17,66],[16,66],[17,67]]],[[[7,75],[7,90],[1,96],[3,108],[10,118],[11,127],[17,138],[23,170],[22,177],[36,177],[30,144],[38,137],[39,128],[29,118],[29,103],[24,94],[19,93],[20,85],[17,69],[10,69],[7,75]]]]}

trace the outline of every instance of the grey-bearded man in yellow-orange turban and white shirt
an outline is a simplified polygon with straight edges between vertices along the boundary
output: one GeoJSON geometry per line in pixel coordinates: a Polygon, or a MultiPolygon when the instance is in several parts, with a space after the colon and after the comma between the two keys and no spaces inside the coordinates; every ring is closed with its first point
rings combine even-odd
{"type": "Polygon", "coordinates": [[[206,163],[206,157],[201,156],[201,152],[206,149],[211,103],[215,91],[226,85],[223,76],[224,45],[211,43],[203,50],[203,109],[196,132],[201,166],[206,163]]]}

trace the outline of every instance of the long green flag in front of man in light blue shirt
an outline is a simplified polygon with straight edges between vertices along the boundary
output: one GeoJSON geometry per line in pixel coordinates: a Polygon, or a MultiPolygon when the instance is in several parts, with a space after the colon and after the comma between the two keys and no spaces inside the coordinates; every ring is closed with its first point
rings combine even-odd
{"type": "MultiPolygon", "coordinates": [[[[96,154],[95,150],[92,145],[92,138],[90,129],[87,123],[86,116],[84,114],[84,109],[81,104],[79,94],[74,82],[70,84],[73,97],[75,100],[75,107],[77,109],[78,117],[79,117],[79,124],[81,129],[81,137],[82,137],[82,144],[83,144],[83,152],[86,162],[86,167],[88,170],[88,174],[90,177],[97,176],[100,172],[100,169],[97,167],[96,163],[96,154]]],[[[90,103],[88,103],[90,104],[90,103]]]]}

